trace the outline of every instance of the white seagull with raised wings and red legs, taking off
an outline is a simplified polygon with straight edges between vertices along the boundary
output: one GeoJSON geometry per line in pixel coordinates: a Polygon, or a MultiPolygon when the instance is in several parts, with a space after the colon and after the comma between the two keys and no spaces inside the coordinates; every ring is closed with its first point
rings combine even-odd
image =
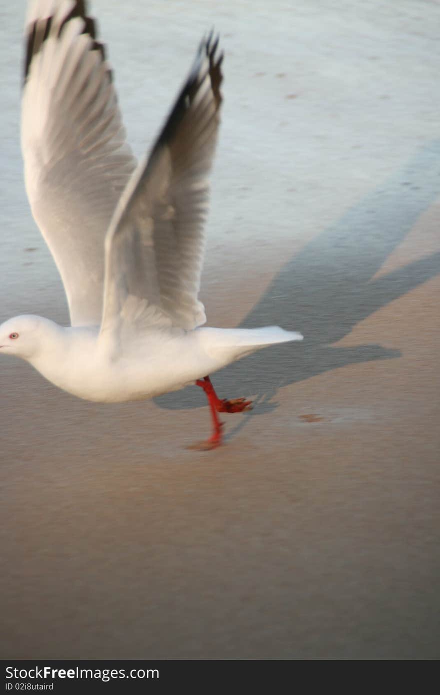
{"type": "Polygon", "coordinates": [[[52,384],[103,403],[200,386],[212,434],[221,399],[210,374],[303,336],[278,326],[204,327],[198,300],[212,159],[219,129],[219,39],[203,38],[151,152],[126,143],[112,72],[83,0],[33,0],[25,25],[22,152],[33,218],[58,267],[70,326],[24,315],[0,325],[0,352],[52,384]]]}

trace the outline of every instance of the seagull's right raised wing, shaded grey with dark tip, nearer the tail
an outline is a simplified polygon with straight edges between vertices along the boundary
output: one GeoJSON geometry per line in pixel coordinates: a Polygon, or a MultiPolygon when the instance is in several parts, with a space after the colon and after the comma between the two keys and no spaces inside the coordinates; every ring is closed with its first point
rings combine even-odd
{"type": "Polygon", "coordinates": [[[208,174],[214,155],[222,55],[203,40],[189,77],[146,163],[117,205],[105,238],[101,332],[119,322],[205,322],[198,302],[208,174]]]}

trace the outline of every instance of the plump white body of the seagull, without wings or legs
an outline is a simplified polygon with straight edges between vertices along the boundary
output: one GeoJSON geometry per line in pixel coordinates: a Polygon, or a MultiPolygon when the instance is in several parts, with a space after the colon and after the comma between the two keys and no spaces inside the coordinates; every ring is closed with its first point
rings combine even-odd
{"type": "MultiPolygon", "coordinates": [[[[63,327],[40,316],[10,319],[35,343],[26,359],[52,384],[85,400],[105,403],[146,400],[178,391],[257,349],[255,341],[281,342],[277,327],[221,329],[153,328],[120,343],[99,327],[63,327]]],[[[7,328],[8,330],[8,328],[7,328]]],[[[2,346],[3,347],[3,346],[2,346]]],[[[8,352],[8,345],[4,346],[8,352]]],[[[26,350],[26,347],[25,347],[26,350]]]]}

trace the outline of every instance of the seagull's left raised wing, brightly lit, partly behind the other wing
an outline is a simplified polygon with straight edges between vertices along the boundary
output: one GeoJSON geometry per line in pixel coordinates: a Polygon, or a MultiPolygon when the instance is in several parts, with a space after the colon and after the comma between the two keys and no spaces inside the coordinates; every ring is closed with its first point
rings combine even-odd
{"type": "Polygon", "coordinates": [[[104,240],[136,161],[83,0],[33,0],[26,17],[22,150],[32,213],[72,325],[99,325],[104,240]]]}

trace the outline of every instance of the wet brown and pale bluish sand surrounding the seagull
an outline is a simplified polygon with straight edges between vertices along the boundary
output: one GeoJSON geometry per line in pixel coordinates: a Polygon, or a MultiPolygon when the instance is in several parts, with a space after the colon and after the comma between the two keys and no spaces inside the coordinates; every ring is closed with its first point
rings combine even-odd
{"type": "MultiPolygon", "coordinates": [[[[293,4],[93,5],[138,154],[221,31],[201,298],[210,325],[305,340],[214,375],[256,407],[212,452],[185,449],[195,387],[92,404],[0,359],[3,658],[440,655],[440,8],[293,4]]],[[[24,195],[21,26],[7,10],[0,320],[67,322],[24,195]]]]}

